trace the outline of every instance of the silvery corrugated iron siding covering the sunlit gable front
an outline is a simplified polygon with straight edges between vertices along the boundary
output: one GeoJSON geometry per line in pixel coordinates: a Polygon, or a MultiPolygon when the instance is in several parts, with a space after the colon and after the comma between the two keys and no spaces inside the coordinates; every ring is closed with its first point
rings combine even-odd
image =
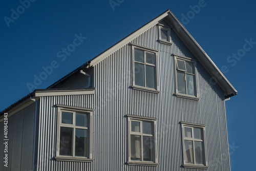
{"type": "MultiPolygon", "coordinates": [[[[176,97],[172,54],[195,58],[174,31],[173,45],[161,44],[158,26],[132,43],[159,52],[160,94],[133,90],[131,46],[125,45],[94,67],[95,95],[42,97],[40,99],[38,170],[202,170],[182,168],[180,121],[205,124],[209,171],[230,170],[224,92],[210,84],[210,75],[197,62],[200,100],[176,97]],[[92,163],[58,162],[55,104],[93,108],[92,163]],[[126,114],[157,120],[158,166],[129,166],[126,114]]],[[[78,81],[79,82],[79,81],[78,81]]]]}

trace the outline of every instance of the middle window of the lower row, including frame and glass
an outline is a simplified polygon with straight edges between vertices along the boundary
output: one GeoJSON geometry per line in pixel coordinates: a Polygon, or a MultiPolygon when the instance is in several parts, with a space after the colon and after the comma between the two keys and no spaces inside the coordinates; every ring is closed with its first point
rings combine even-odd
{"type": "Polygon", "coordinates": [[[129,164],[158,165],[156,119],[129,115],[129,164]]]}

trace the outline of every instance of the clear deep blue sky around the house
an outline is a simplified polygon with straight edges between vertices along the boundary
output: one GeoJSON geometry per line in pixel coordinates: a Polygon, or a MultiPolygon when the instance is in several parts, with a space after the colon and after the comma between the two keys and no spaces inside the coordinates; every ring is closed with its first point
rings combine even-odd
{"type": "Polygon", "coordinates": [[[27,9],[20,8],[18,0],[0,3],[0,111],[29,94],[27,83],[33,84],[34,75],[52,61],[58,67],[36,89],[47,88],[170,9],[238,90],[239,95],[226,102],[232,170],[255,170],[256,2],[205,0],[200,11],[191,12],[191,6],[203,0],[118,0],[114,10],[108,0],[33,1],[25,4],[27,9]],[[66,59],[58,58],[80,33],[87,38],[66,59]]]}

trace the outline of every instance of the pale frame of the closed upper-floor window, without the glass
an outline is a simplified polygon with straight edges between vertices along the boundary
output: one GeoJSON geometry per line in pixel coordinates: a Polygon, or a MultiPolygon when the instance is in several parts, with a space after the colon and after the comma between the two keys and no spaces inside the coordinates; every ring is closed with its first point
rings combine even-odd
{"type": "MultiPolygon", "coordinates": [[[[146,47],[142,47],[139,45],[135,45],[135,44],[131,44],[132,45],[132,78],[133,78],[133,85],[132,88],[135,90],[143,90],[143,91],[147,91],[147,92],[152,92],[152,93],[160,93],[159,91],[159,71],[158,71],[158,50],[155,49],[151,49],[151,48],[146,48],[146,47]],[[148,65],[148,66],[154,66],[155,67],[155,89],[152,88],[147,88],[147,87],[142,87],[142,86],[137,86],[135,84],[135,60],[134,60],[134,50],[138,49],[141,51],[144,51],[144,61],[145,61],[145,54],[146,52],[150,52],[150,53],[154,53],[155,54],[155,65],[152,65],[150,63],[146,63],[146,62],[137,62],[137,63],[141,63],[144,65],[148,65]]],[[[145,67],[144,67],[145,69],[145,67]]],[[[145,77],[145,71],[144,71],[144,77],[145,77]]],[[[144,78],[146,79],[146,78],[144,78]]],[[[146,83],[146,81],[145,81],[146,83]]]]}

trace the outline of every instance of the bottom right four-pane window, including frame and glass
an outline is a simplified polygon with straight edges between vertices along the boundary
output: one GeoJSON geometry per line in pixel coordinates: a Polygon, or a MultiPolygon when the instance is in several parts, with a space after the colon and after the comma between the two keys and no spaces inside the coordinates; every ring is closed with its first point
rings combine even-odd
{"type": "Polygon", "coordinates": [[[206,167],[205,125],[182,122],[184,167],[206,167]]]}

